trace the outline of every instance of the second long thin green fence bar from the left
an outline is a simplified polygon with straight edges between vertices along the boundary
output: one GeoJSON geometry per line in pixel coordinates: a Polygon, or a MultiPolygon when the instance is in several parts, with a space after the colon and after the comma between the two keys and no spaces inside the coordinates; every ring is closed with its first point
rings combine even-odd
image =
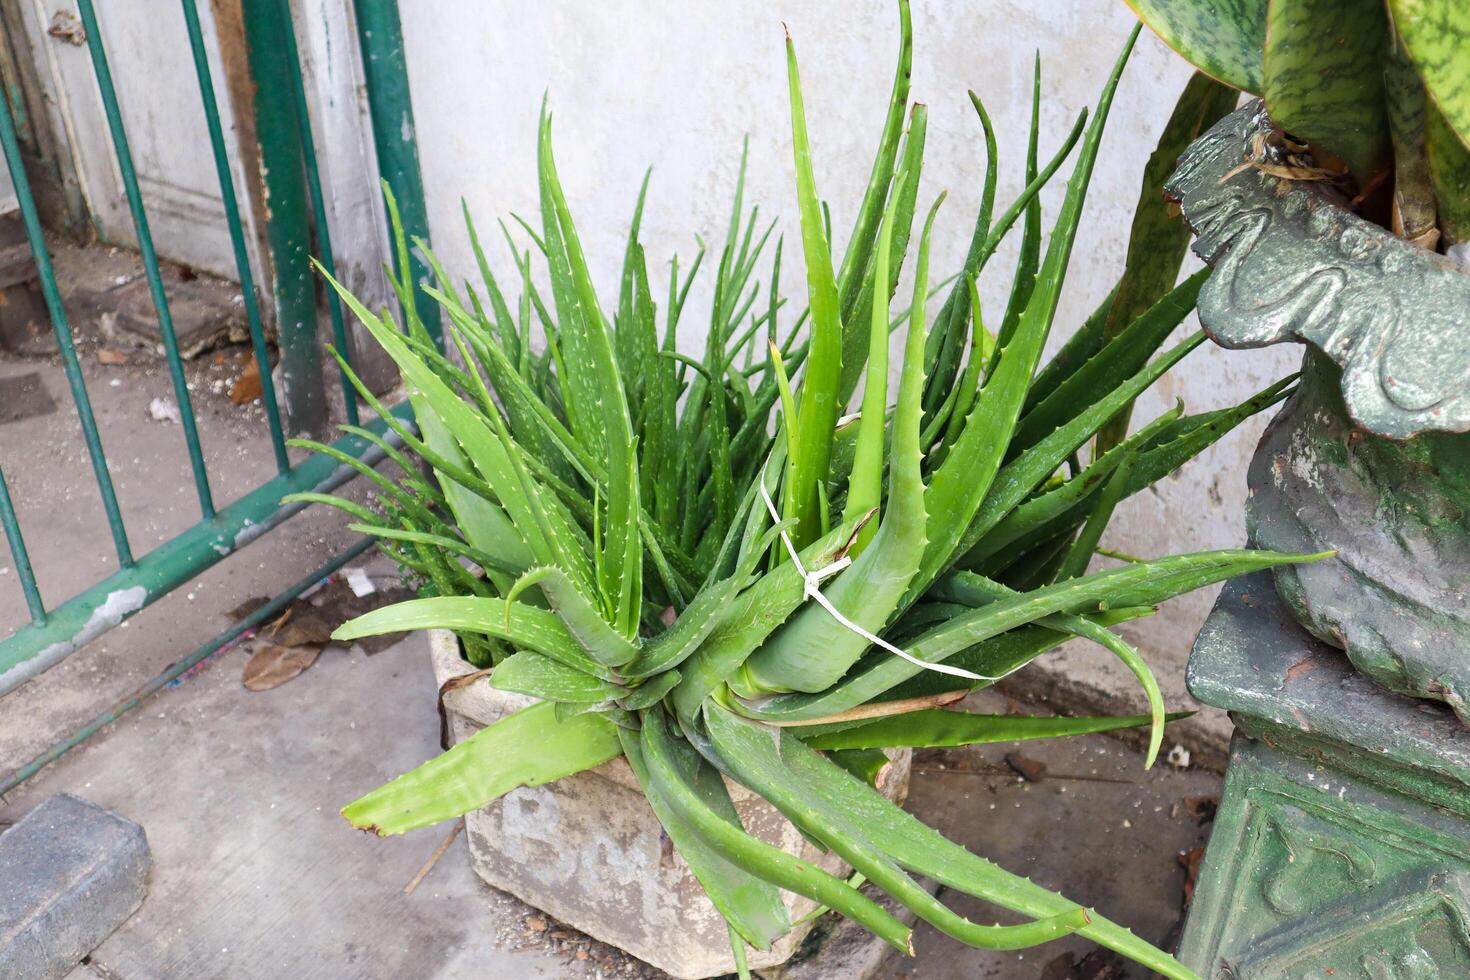
{"type": "Polygon", "coordinates": [[[97,26],[97,13],[93,10],[91,0],[76,0],[76,12],[81,15],[82,29],[87,32],[87,50],[91,54],[93,72],[97,75],[97,90],[101,94],[107,129],[118,156],[122,188],[128,197],[128,210],[132,212],[132,226],[138,234],[138,253],[143,256],[143,269],[148,278],[153,309],[159,314],[159,332],[163,335],[163,353],[169,363],[169,376],[173,381],[173,397],[178,398],[184,442],[188,447],[190,469],[194,472],[194,489],[198,492],[198,508],[204,514],[204,520],[210,520],[215,517],[215,500],[209,491],[204,453],[200,448],[198,429],[194,425],[194,403],[188,394],[188,382],[184,379],[184,359],[179,357],[178,336],[173,334],[173,316],[169,313],[169,298],[163,291],[163,275],[159,272],[159,256],[153,248],[153,232],[148,231],[148,215],[143,209],[143,192],[138,190],[138,173],[132,166],[132,150],[128,148],[128,134],[122,126],[118,91],[112,84],[112,69],[107,68],[107,53],[103,50],[101,31],[97,26]]]}

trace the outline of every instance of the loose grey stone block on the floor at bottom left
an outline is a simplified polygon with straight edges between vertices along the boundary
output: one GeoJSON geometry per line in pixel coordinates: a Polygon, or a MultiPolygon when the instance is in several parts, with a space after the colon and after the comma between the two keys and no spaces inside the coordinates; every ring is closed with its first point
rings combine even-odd
{"type": "Polygon", "coordinates": [[[143,904],[143,827],[57,793],[0,835],[0,977],[68,976],[143,904]]]}

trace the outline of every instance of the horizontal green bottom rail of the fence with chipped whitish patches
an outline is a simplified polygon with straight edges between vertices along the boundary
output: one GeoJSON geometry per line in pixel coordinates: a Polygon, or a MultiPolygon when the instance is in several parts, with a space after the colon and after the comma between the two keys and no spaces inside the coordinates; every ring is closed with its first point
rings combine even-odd
{"type": "MultiPolygon", "coordinates": [[[[410,419],[407,403],[395,410],[400,419],[410,419]]],[[[372,426],[385,433],[379,419],[372,426]]],[[[394,441],[387,433],[390,442],[394,441]]],[[[382,450],[359,436],[345,436],[334,444],[369,466],[384,458],[382,450]]],[[[245,547],[304,505],[281,505],[281,498],[303,491],[326,492],[353,479],[357,470],[338,464],[326,455],[312,455],[300,466],[262,483],[213,520],[194,525],[179,536],[159,545],[131,566],[103,579],[81,595],[49,613],[44,621],[32,621],[0,641],[0,693],[60,663],[72,651],[96,639],[106,630],[169,591],[188,582],[225,555],[245,547]]]]}

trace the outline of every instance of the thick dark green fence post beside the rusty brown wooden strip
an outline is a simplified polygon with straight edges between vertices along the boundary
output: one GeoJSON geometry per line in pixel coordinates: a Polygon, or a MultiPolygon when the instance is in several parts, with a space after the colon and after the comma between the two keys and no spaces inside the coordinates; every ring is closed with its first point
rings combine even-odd
{"type": "Polygon", "coordinates": [[[243,4],[245,57],[254,82],[256,140],[265,191],[266,239],[275,270],[281,385],[293,432],[319,435],[326,425],[322,354],[316,345],[316,281],[310,263],[301,131],[291,97],[291,63],[281,3],[243,4]]]}

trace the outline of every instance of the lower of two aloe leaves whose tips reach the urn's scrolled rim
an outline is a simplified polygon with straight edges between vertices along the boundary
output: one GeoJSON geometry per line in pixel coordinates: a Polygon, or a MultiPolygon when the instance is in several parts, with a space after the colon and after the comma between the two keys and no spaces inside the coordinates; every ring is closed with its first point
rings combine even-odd
{"type": "Polygon", "coordinates": [[[1110,391],[1086,411],[1061,425],[1028,451],[1003,466],[991,482],[985,501],[975,513],[975,519],[960,536],[958,547],[951,554],[967,554],[980,538],[1036,489],[1042,480],[1054,473],[1119,408],[1133,401],[1139,392],[1158,381],[1164,372],[1202,342],[1204,332],[1197,332],[1110,391]]]}

